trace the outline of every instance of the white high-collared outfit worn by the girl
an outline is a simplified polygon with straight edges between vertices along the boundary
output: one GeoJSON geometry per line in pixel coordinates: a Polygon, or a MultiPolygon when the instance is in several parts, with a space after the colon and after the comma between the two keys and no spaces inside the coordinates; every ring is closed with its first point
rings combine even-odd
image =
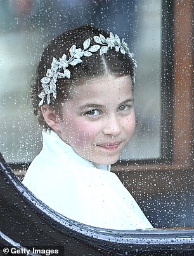
{"type": "Polygon", "coordinates": [[[53,210],[82,224],[108,229],[152,228],[110,167],[94,166],[53,131],[42,132],[43,148],[23,184],[53,210]]]}

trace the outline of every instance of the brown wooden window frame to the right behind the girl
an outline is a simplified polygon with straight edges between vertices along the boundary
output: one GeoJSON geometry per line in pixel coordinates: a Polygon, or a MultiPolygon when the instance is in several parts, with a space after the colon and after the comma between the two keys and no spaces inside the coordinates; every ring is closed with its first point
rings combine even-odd
{"type": "Polygon", "coordinates": [[[126,171],[175,171],[193,166],[193,4],[191,0],[162,1],[162,11],[161,157],[122,160],[112,167],[120,178],[126,171]]]}

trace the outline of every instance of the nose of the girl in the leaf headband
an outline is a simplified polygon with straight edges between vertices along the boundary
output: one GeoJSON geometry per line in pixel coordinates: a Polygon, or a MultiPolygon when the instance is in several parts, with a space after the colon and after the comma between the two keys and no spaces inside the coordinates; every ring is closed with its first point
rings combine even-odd
{"type": "Polygon", "coordinates": [[[119,119],[113,115],[112,117],[107,117],[105,121],[105,126],[103,129],[103,133],[106,135],[117,136],[121,132],[121,125],[119,119]]]}

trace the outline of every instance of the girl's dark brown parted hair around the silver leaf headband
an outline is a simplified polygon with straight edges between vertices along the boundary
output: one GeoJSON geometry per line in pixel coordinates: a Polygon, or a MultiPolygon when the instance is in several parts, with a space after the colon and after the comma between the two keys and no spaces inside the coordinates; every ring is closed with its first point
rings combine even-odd
{"type": "MultiPolygon", "coordinates": [[[[107,32],[96,29],[90,25],[78,27],[77,29],[72,29],[60,34],[60,36],[53,39],[44,49],[39,65],[37,66],[34,82],[32,82],[31,92],[34,114],[37,116],[39,124],[44,129],[49,129],[49,126],[42,116],[41,107],[39,106],[39,94],[42,91],[41,79],[51,67],[53,57],[59,59],[64,53],[68,55],[68,50],[72,45],[76,45],[77,48],[82,48],[82,43],[87,38],[91,39],[91,45],[95,45],[96,43],[93,40],[93,36],[99,36],[99,34],[102,34],[106,38],[109,36],[107,32]]],[[[108,50],[108,52],[103,55],[96,52],[90,57],[82,57],[82,59],[83,61],[77,64],[77,66],[68,67],[71,73],[70,79],[61,78],[56,82],[57,98],[54,99],[52,97],[51,104],[49,105],[51,108],[59,109],[60,103],[70,97],[70,88],[86,80],[98,78],[107,73],[114,76],[130,75],[132,80],[134,78],[136,62],[129,55],[116,52],[114,49],[108,50]]]]}

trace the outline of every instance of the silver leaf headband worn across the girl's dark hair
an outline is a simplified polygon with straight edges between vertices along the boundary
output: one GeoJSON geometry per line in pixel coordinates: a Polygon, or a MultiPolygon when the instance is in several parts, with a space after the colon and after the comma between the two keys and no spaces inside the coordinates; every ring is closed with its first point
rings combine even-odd
{"type": "MultiPolygon", "coordinates": [[[[69,79],[71,73],[67,69],[68,65],[76,66],[77,64],[81,63],[82,56],[89,57],[93,55],[94,52],[98,52],[99,49],[100,55],[103,55],[104,53],[107,53],[109,49],[115,48],[116,52],[120,51],[122,54],[127,53],[127,55],[133,59],[133,53],[129,52],[127,43],[124,42],[124,39],[120,41],[117,34],[114,36],[113,33],[110,32],[109,38],[105,38],[105,36],[99,34],[99,36],[94,36],[93,39],[98,45],[90,46],[91,39],[87,38],[83,43],[83,50],[81,48],[77,49],[76,45],[72,45],[69,49],[70,58],[68,60],[67,55],[65,54],[63,54],[59,60],[53,57],[51,68],[47,69],[46,76],[41,79],[43,90],[39,94],[39,97],[41,98],[39,106],[44,103],[44,97],[46,97],[47,104],[50,104],[51,94],[53,94],[53,97],[56,99],[56,81],[65,77],[69,79]]],[[[134,64],[136,65],[135,60],[134,64]]]]}

